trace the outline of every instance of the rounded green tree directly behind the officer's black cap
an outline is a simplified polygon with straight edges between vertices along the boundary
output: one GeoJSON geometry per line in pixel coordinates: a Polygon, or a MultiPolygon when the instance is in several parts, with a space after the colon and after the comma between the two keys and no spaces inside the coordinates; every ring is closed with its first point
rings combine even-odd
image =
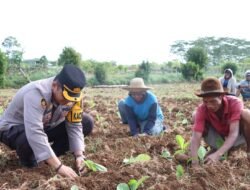
{"type": "Polygon", "coordinates": [[[58,65],[73,64],[80,66],[81,54],[71,47],[65,47],[58,59],[58,65]]]}

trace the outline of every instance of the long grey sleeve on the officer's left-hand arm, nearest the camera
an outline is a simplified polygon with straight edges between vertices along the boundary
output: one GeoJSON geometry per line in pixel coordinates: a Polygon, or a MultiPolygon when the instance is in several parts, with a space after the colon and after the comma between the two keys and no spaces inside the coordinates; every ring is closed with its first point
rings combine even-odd
{"type": "Polygon", "coordinates": [[[29,91],[24,96],[25,133],[37,162],[55,156],[43,130],[41,99],[40,93],[36,90],[29,91]]]}

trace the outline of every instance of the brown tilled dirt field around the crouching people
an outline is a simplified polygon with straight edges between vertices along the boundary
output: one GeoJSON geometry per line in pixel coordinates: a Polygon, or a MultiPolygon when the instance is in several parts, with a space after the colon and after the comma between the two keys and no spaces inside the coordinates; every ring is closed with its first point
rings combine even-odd
{"type": "MultiPolygon", "coordinates": [[[[46,164],[27,169],[19,166],[15,151],[0,144],[0,189],[70,189],[77,185],[79,189],[109,190],[116,189],[122,182],[131,178],[140,179],[149,176],[139,189],[155,190],[247,190],[250,189],[250,170],[246,159],[245,147],[232,150],[227,160],[215,165],[201,165],[191,168],[182,164],[185,174],[176,178],[175,159],[167,160],[161,157],[161,152],[168,149],[171,155],[178,148],[175,136],[183,135],[186,140],[191,136],[191,114],[200,100],[195,97],[185,97],[194,87],[184,91],[184,95],[176,93],[171,88],[156,87],[153,91],[159,94],[165,123],[170,126],[168,131],[160,136],[130,137],[127,125],[120,124],[117,114],[117,101],[126,96],[120,89],[86,89],[85,111],[95,117],[95,129],[91,136],[85,139],[86,156],[107,167],[108,172],[87,172],[75,180],[63,178],[46,164]],[[161,90],[161,91],[160,91],[161,90]],[[90,108],[91,107],[91,108],[90,108]],[[187,122],[184,122],[187,119],[187,122]],[[144,163],[124,165],[123,159],[146,153],[151,160],[144,163]]],[[[186,89],[185,88],[185,89],[186,89]]],[[[157,95],[158,95],[157,94],[157,95]]],[[[9,96],[0,97],[0,106],[6,106],[9,96]]],[[[68,154],[60,157],[62,162],[74,168],[73,157],[68,154]]]]}

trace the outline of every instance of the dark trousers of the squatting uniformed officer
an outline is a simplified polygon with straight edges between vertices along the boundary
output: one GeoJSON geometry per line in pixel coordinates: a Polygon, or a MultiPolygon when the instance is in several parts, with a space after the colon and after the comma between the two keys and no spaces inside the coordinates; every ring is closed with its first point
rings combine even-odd
{"type": "MultiPolygon", "coordinates": [[[[87,136],[91,133],[94,122],[93,118],[88,114],[83,114],[82,119],[83,134],[87,136]]],[[[57,156],[65,154],[69,150],[68,134],[65,128],[65,122],[48,131],[45,131],[49,142],[52,143],[51,148],[57,156]]],[[[0,141],[16,150],[21,164],[32,167],[36,165],[34,153],[28,143],[24,125],[13,126],[8,131],[0,132],[0,141]]]]}

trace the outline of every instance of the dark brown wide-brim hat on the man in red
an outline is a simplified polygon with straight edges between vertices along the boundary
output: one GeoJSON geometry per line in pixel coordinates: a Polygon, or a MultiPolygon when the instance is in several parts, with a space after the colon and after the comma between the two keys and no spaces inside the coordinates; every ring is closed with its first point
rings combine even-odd
{"type": "Polygon", "coordinates": [[[201,89],[195,92],[196,96],[219,96],[225,95],[227,92],[224,91],[220,81],[217,78],[209,77],[202,81],[201,89]]]}

